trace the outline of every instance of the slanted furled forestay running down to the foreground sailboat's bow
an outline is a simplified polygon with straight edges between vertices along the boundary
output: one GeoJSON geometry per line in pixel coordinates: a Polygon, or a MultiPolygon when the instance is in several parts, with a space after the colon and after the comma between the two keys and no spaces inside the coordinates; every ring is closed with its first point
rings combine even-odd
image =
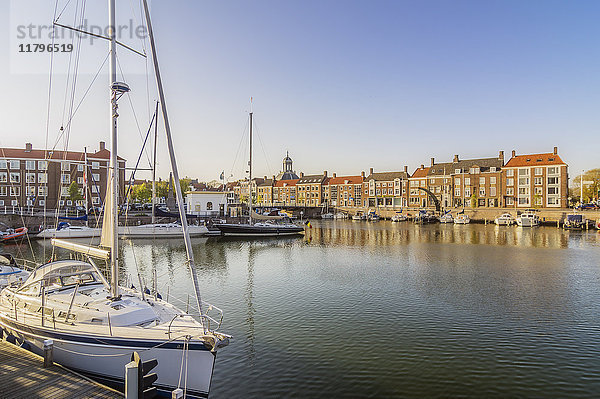
{"type": "MultiPolygon", "coordinates": [[[[114,0],[112,0],[114,1],[114,0]]],[[[154,43],[154,33],[152,32],[152,22],[150,21],[150,11],[148,10],[148,1],[144,0],[144,15],[146,17],[146,28],[148,29],[148,38],[150,40],[150,47],[152,49],[152,61],[154,63],[154,75],[156,77],[156,85],[158,87],[158,94],[160,97],[160,105],[162,109],[163,119],[165,121],[165,131],[167,134],[167,148],[169,149],[169,156],[171,158],[171,169],[173,170],[173,179],[175,192],[177,193],[177,206],[179,208],[179,217],[181,218],[181,227],[183,228],[183,238],[185,241],[185,249],[187,252],[188,264],[190,267],[190,273],[192,275],[192,283],[194,284],[194,291],[196,292],[196,304],[198,305],[198,311],[202,314],[202,300],[200,298],[200,288],[198,287],[198,275],[196,274],[196,265],[194,264],[194,252],[192,251],[192,242],[188,232],[187,218],[185,215],[185,208],[183,204],[183,195],[181,194],[181,186],[179,184],[179,172],[177,171],[177,162],[175,161],[175,151],[173,150],[173,140],[171,138],[171,125],[169,125],[169,117],[167,114],[167,104],[165,102],[165,93],[163,90],[162,79],[160,77],[160,70],[158,68],[158,58],[156,56],[156,45],[154,43]]]]}

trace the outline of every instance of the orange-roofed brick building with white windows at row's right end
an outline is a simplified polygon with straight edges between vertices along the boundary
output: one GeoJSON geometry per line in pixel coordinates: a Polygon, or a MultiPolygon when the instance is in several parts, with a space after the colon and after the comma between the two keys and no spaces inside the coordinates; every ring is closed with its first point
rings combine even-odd
{"type": "Polygon", "coordinates": [[[513,150],[504,166],[502,180],[507,207],[568,206],[568,166],[558,155],[558,147],[543,154],[517,155],[513,150]]]}

